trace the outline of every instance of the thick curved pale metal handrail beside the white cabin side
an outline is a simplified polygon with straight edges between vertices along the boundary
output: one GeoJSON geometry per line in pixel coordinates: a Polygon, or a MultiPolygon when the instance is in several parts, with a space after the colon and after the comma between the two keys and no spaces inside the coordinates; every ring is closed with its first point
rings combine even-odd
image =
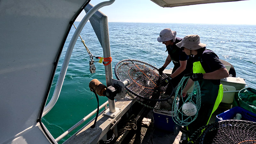
{"type": "MultiPolygon", "coordinates": [[[[76,28],[76,31],[74,33],[74,35],[72,36],[70,43],[68,45],[66,54],[65,54],[65,58],[63,60],[62,63],[62,67],[60,70],[60,75],[59,78],[57,80],[53,95],[52,95],[52,99],[50,100],[50,102],[45,106],[44,108],[44,112],[42,116],[45,116],[55,105],[55,103],[57,102],[59,96],[60,96],[60,91],[64,82],[64,78],[68,69],[68,63],[73,51],[73,48],[76,44],[77,38],[80,35],[82,29],[84,28],[85,24],[87,23],[87,21],[91,18],[91,16],[98,11],[100,8],[102,8],[103,6],[107,6],[110,5],[112,3],[114,3],[115,0],[110,0],[110,1],[105,1],[105,2],[101,2],[97,5],[95,5],[90,11],[88,11],[86,13],[86,15],[84,16],[84,18],[81,20],[81,22],[79,23],[78,27],[76,28]]],[[[112,71],[111,71],[112,72],[112,71]]]]}

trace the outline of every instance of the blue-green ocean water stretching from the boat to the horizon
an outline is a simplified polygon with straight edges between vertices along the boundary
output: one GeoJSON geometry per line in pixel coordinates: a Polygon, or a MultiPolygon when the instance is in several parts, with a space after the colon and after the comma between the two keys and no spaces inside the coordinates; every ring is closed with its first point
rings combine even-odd
{"type": "MultiPolygon", "coordinates": [[[[78,24],[79,22],[75,22],[76,26],[78,24]]],[[[114,74],[116,63],[128,58],[147,62],[156,68],[162,67],[168,53],[165,52],[165,45],[157,42],[156,39],[162,29],[171,28],[177,32],[177,37],[199,35],[201,42],[207,44],[207,49],[211,49],[220,59],[234,66],[236,77],[244,78],[246,87],[256,88],[256,25],[110,22],[108,27],[114,78],[116,78],[114,74]]],[[[66,49],[74,31],[75,28],[72,27],[64,45],[47,102],[52,97],[66,49]]],[[[101,45],[89,22],[80,35],[94,56],[103,57],[101,45]]],[[[96,78],[106,85],[105,70],[102,63],[95,63],[96,73],[91,74],[89,60],[89,55],[78,37],[60,97],[52,110],[42,119],[54,138],[97,108],[97,100],[89,89],[89,82],[96,78]]],[[[170,68],[173,68],[172,62],[167,67],[167,69],[170,68]]],[[[100,105],[107,100],[106,97],[99,97],[100,105]]],[[[59,143],[63,143],[90,120],[84,122],[59,143]]]]}

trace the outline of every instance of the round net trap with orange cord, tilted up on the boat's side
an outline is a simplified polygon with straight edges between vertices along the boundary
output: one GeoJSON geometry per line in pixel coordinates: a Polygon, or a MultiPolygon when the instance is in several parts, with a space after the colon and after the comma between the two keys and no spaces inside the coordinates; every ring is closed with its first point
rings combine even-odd
{"type": "Polygon", "coordinates": [[[115,66],[115,75],[120,81],[130,80],[126,90],[141,104],[157,110],[172,109],[174,88],[171,83],[162,83],[167,76],[159,74],[154,66],[139,60],[121,60],[115,66]]]}

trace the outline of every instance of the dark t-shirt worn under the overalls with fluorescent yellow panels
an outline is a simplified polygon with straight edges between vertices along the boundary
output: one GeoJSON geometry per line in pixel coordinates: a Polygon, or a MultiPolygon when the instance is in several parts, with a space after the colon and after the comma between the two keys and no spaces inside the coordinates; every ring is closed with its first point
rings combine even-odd
{"type": "MultiPolygon", "coordinates": [[[[220,68],[226,68],[220,61],[217,54],[208,49],[199,50],[194,56],[194,62],[199,61],[204,68],[205,73],[210,73],[220,68]]],[[[220,84],[220,80],[212,80],[213,84],[220,84]]]]}

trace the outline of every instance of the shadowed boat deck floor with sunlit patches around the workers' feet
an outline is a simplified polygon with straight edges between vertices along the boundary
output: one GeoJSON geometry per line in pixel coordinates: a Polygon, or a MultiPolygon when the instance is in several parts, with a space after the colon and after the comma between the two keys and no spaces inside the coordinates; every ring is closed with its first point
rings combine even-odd
{"type": "MultiPolygon", "coordinates": [[[[230,109],[232,105],[221,103],[213,113],[209,124],[214,123],[216,115],[230,109]]],[[[186,139],[186,135],[180,131],[180,126],[175,125],[174,132],[167,132],[154,127],[153,110],[149,110],[141,121],[137,122],[137,130],[131,130],[122,143],[118,140],[115,144],[179,144],[180,140],[186,139]]]]}

